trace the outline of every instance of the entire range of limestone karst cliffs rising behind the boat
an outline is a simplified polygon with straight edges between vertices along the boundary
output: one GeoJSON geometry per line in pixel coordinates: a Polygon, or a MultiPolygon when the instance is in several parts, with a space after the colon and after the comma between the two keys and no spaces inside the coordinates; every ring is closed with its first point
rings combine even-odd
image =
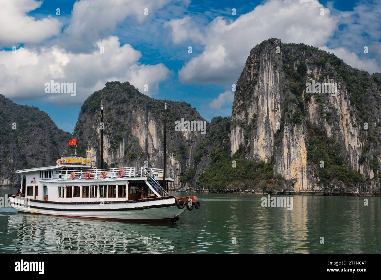
{"type": "MultiPolygon", "coordinates": [[[[128,82],[108,82],[84,102],[74,137],[78,151],[91,149],[86,155],[99,166],[95,124],[103,104],[113,135],[104,135],[106,166],[146,163],[162,168],[166,102],[172,131],[167,134],[166,167],[176,188],[379,194],[380,90],[379,73],[354,69],[312,46],[271,38],[250,51],[231,117],[213,118],[206,134],[174,130],[181,118],[204,120],[190,104],[150,98],[128,82]],[[306,90],[306,85],[319,83],[337,85],[337,92],[306,90]]],[[[0,133],[0,184],[15,184],[16,169],[55,162],[54,156],[66,154],[66,139],[72,136],[59,131],[43,112],[5,101],[0,112],[1,125],[7,127],[0,133]],[[30,113],[23,114],[18,120],[22,130],[11,131],[13,107],[42,115],[45,121],[36,125],[27,120],[30,113]],[[46,133],[49,138],[38,138],[46,133]],[[43,160],[37,159],[30,141],[43,141],[43,160]]]]}

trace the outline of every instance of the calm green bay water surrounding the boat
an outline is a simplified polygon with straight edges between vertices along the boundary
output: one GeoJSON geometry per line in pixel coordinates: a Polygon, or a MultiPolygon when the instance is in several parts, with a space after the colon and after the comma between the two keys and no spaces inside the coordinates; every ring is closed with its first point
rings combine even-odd
{"type": "MultiPolygon", "coordinates": [[[[0,196],[15,192],[1,188],[0,196]]],[[[0,253],[381,253],[380,197],[293,196],[287,210],[261,207],[262,195],[195,195],[201,208],[186,210],[176,224],[0,208],[0,253]]]]}

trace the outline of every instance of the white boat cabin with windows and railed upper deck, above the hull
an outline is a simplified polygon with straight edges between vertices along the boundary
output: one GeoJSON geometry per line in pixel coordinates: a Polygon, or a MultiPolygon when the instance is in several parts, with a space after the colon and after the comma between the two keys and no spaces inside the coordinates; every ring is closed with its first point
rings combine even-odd
{"type": "MultiPolygon", "coordinates": [[[[161,197],[163,170],[62,164],[18,170],[24,197],[51,202],[103,202],[161,197]]],[[[173,179],[166,178],[166,182],[173,179]]]]}

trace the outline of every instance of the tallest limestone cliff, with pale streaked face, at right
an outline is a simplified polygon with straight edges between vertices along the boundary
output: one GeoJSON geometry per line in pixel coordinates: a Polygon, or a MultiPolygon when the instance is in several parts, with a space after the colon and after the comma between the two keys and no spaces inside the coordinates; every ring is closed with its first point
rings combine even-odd
{"type": "Polygon", "coordinates": [[[231,153],[272,163],[298,192],[379,192],[379,77],[311,46],[262,42],[237,82],[231,153]],[[338,91],[307,93],[307,83],[338,91]]]}

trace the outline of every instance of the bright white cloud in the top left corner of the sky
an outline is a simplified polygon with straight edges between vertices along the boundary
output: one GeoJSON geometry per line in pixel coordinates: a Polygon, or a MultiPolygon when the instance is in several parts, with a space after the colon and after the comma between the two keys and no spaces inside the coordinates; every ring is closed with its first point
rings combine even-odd
{"type": "Polygon", "coordinates": [[[0,1],[0,48],[38,43],[60,32],[61,24],[51,16],[37,21],[27,16],[41,4],[35,0],[0,1]]]}

